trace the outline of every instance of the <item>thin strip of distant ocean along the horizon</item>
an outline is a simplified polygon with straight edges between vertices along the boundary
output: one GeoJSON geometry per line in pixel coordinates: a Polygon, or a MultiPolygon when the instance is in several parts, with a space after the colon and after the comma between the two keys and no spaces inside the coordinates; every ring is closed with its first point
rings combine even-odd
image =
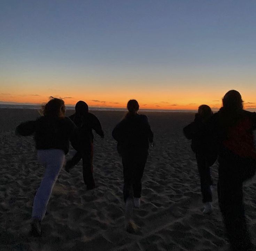
{"type": "MultiPolygon", "coordinates": [[[[16,105],[16,104],[0,104],[0,109],[41,109],[40,105],[16,105]]],[[[74,106],[66,106],[67,110],[75,110],[74,106]]],[[[109,107],[90,107],[90,111],[126,111],[125,108],[109,108],[109,107]]],[[[197,112],[196,110],[159,110],[159,109],[140,109],[146,112],[197,112]]]]}

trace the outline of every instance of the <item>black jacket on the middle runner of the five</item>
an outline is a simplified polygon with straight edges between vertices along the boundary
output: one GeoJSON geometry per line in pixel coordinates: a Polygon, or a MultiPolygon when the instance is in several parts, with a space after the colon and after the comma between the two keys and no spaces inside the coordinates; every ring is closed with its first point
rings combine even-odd
{"type": "Polygon", "coordinates": [[[148,142],[153,142],[148,118],[139,114],[124,118],[114,128],[112,136],[118,142],[117,150],[121,155],[126,151],[148,149],[148,142]]]}

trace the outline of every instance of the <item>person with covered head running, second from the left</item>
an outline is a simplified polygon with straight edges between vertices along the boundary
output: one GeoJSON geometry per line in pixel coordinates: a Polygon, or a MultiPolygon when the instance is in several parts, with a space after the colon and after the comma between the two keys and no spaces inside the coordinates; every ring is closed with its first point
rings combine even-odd
{"type": "Polygon", "coordinates": [[[99,119],[88,112],[88,105],[84,101],[78,101],[75,106],[75,113],[69,118],[75,123],[79,131],[79,144],[73,146],[77,153],[68,160],[65,165],[65,171],[69,172],[71,168],[78,164],[83,159],[83,178],[87,186],[87,190],[95,188],[93,178],[93,133],[92,129],[104,138],[99,119]]]}

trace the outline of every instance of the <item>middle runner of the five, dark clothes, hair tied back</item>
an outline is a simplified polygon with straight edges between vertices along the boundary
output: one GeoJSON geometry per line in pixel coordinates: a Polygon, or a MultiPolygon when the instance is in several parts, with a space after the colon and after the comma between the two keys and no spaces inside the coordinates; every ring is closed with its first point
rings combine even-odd
{"type": "Polygon", "coordinates": [[[147,116],[138,114],[139,103],[136,100],[130,100],[127,109],[128,113],[116,125],[112,136],[117,141],[117,150],[122,156],[126,229],[133,232],[137,226],[131,219],[132,208],[140,207],[141,179],[148,157],[149,142],[153,146],[153,132],[147,116]]]}

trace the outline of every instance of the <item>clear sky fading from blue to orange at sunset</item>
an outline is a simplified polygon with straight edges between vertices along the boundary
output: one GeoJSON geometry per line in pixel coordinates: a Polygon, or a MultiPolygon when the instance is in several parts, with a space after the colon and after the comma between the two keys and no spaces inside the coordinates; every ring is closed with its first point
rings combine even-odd
{"type": "Polygon", "coordinates": [[[0,104],[256,108],[256,1],[0,0],[0,104]]]}

